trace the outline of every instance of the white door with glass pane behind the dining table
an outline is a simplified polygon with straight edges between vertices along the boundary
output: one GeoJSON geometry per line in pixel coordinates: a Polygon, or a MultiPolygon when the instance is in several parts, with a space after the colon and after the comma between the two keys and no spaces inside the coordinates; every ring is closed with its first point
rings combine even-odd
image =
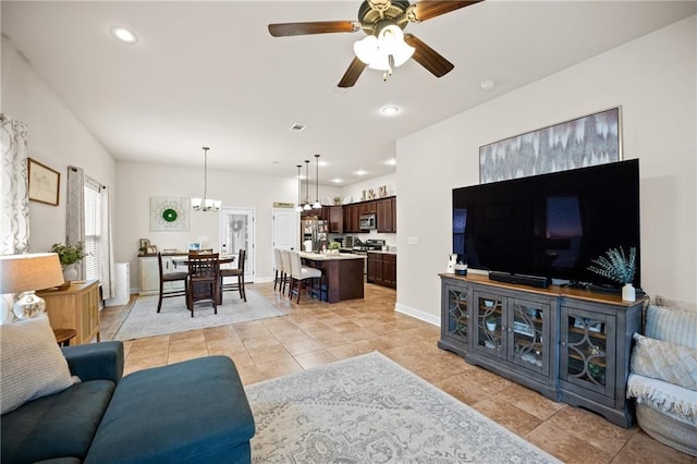
{"type": "MultiPolygon", "coordinates": [[[[254,282],[254,209],[221,208],[220,210],[220,249],[229,255],[239,256],[240,248],[244,248],[247,252],[244,281],[254,282]]],[[[233,266],[236,267],[236,262],[233,266]]]]}

